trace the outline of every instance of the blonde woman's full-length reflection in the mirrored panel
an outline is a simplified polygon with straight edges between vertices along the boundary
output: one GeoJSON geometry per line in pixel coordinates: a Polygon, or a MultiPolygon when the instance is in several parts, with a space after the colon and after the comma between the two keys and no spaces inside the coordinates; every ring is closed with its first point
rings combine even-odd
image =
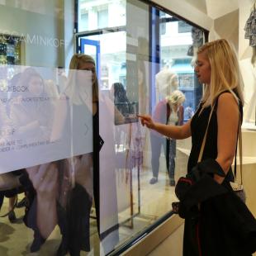
{"type": "Polygon", "coordinates": [[[81,250],[90,251],[89,218],[93,196],[99,225],[98,138],[96,132],[92,134],[92,128],[95,131],[98,129],[97,90],[94,59],[89,55],[73,55],[69,64],[67,87],[64,90],[64,95],[69,99],[66,123],[71,123],[73,143],[71,158],[61,160],[59,164],[59,168],[69,177],[68,187],[65,185],[66,180],[60,182],[62,188],[59,203],[65,211],[59,211],[59,227],[63,235],[59,255],[67,252],[79,255],[81,250]],[[87,136],[84,136],[85,126],[91,131],[87,136]],[[67,198],[66,191],[69,195],[67,198]]]}

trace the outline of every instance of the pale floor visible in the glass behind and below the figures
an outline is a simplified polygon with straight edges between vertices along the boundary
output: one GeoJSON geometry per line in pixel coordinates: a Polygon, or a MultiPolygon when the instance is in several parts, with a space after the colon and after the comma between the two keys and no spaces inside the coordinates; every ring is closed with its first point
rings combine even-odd
{"type": "MultiPolygon", "coordinates": [[[[168,173],[166,172],[165,159],[163,156],[160,159],[158,183],[153,185],[149,184],[149,180],[152,178],[150,167],[140,169],[140,180],[138,179],[136,168],[132,170],[132,173],[127,173],[125,169],[116,169],[119,243],[116,244],[115,248],[135,238],[136,235],[149,227],[149,225],[152,225],[155,220],[164,216],[168,211],[171,211],[172,201],[177,201],[174,187],[169,186],[168,173]],[[130,179],[132,179],[132,186],[130,186],[130,179]],[[133,217],[131,217],[131,206],[133,206],[133,217]]],[[[178,150],[175,167],[176,180],[186,172],[186,157],[183,152],[178,150]]],[[[148,162],[150,161],[148,160],[148,162]]],[[[149,165],[150,164],[148,164],[148,166],[149,165]]],[[[20,194],[18,197],[20,201],[23,194],[20,194]]],[[[0,215],[7,212],[7,205],[8,199],[6,198],[0,215]]],[[[16,223],[10,223],[7,217],[0,217],[0,255],[55,255],[61,239],[58,226],[55,227],[55,230],[51,233],[38,253],[30,253],[33,232],[23,223],[22,216],[24,216],[24,209],[25,208],[15,209],[17,215],[16,223]]],[[[81,255],[105,254],[102,242],[100,242],[97,235],[96,220],[93,218],[90,219],[90,244],[91,251],[88,253],[81,252],[81,255]]]]}

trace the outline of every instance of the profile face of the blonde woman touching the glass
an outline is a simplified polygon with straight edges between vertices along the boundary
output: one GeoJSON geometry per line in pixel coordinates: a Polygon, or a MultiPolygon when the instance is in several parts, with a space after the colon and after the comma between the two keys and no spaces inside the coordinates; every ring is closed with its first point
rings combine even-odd
{"type": "Polygon", "coordinates": [[[195,72],[200,83],[211,83],[211,64],[203,52],[197,55],[195,72]]]}

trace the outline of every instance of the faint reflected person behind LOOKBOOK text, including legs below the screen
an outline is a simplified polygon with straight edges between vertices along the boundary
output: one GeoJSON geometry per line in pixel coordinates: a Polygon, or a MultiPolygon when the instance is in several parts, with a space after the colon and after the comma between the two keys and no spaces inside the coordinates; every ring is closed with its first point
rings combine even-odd
{"type": "MultiPolygon", "coordinates": [[[[45,142],[45,140],[50,139],[52,126],[51,113],[54,109],[52,102],[49,100],[44,79],[36,69],[27,68],[23,73],[20,73],[17,85],[22,90],[20,92],[12,92],[8,112],[12,126],[17,130],[22,149],[28,149],[31,145],[39,141],[45,142]]],[[[38,154],[40,154],[39,148],[33,150],[39,150],[38,154]]],[[[52,174],[51,170],[53,167],[50,164],[48,165],[34,166],[19,171],[22,191],[26,193],[27,201],[23,220],[28,227],[35,231],[31,251],[39,249],[40,244],[44,242],[45,238],[52,231],[51,227],[54,224],[51,224],[51,222],[55,222],[55,218],[53,217],[55,216],[55,208],[51,207],[53,205],[52,201],[48,200],[49,198],[47,197],[47,193],[54,194],[51,185],[47,183],[49,179],[45,178],[45,182],[42,182],[36,178],[38,172],[43,173],[41,174],[43,176],[47,172],[50,173],[48,176],[52,174]],[[45,190],[44,187],[47,187],[47,189],[45,190]],[[37,204],[37,201],[40,201],[40,204],[37,204]],[[41,208],[44,211],[40,211],[40,206],[43,206],[41,208]],[[37,209],[37,207],[39,208],[37,209]],[[34,216],[33,212],[38,214],[38,216],[34,216]],[[42,218],[40,217],[41,214],[43,216],[48,215],[50,218],[42,218]],[[42,235],[40,235],[38,227],[43,228],[42,235]]],[[[55,183],[55,175],[50,178],[50,181],[51,183],[55,183]]]]}

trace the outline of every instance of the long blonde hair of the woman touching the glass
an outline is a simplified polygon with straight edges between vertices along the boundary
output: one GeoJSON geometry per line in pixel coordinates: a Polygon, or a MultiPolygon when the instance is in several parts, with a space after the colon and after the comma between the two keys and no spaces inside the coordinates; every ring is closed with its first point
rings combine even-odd
{"type": "Polygon", "coordinates": [[[225,39],[202,45],[197,54],[204,54],[211,64],[211,85],[205,88],[203,106],[213,105],[221,92],[230,91],[244,105],[244,82],[234,48],[225,39]]]}

